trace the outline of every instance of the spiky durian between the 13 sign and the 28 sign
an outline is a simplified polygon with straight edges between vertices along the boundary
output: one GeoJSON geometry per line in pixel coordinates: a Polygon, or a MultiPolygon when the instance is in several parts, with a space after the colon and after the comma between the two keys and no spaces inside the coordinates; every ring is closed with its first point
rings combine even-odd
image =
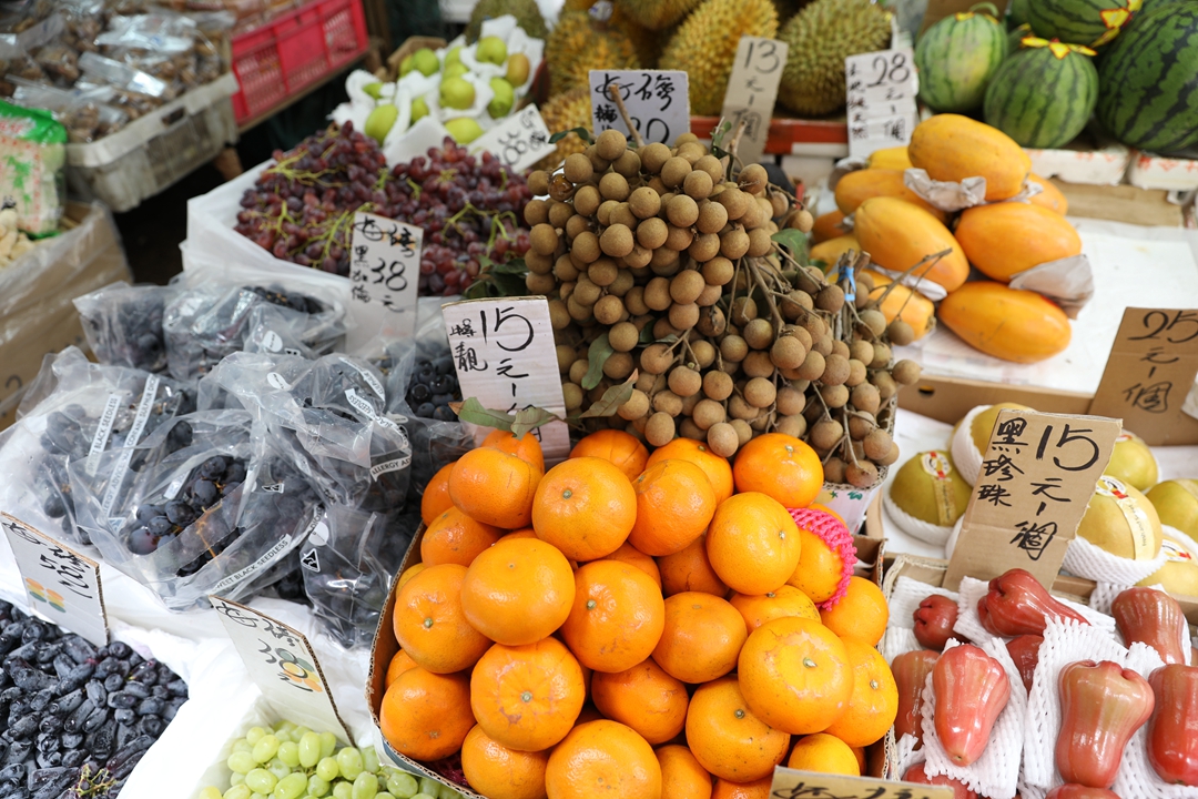
{"type": "Polygon", "coordinates": [[[797,114],[845,105],[845,57],[890,44],[890,12],[870,0],[815,0],[779,36],[789,46],[778,98],[797,114]]]}

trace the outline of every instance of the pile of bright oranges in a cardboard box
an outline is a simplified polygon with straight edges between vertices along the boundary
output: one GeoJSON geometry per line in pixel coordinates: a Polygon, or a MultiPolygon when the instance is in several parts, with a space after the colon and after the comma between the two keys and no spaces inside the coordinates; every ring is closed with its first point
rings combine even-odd
{"type": "Polygon", "coordinates": [[[491,434],[425,489],[385,738],[443,774],[460,755],[490,799],[764,797],[783,762],[860,774],[897,713],[888,611],[787,510],[822,484],[781,434],[730,464],[604,430],[547,472],[532,435],[491,434]]]}

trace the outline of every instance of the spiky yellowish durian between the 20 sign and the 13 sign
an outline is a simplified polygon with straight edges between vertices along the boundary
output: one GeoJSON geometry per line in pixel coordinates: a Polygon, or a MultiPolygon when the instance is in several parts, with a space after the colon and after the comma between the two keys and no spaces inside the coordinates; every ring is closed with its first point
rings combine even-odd
{"type": "Polygon", "coordinates": [[[740,37],[773,38],[776,32],[778,11],[773,0],[704,0],[678,26],[658,66],[685,69],[691,113],[715,115],[724,107],[740,37]]]}

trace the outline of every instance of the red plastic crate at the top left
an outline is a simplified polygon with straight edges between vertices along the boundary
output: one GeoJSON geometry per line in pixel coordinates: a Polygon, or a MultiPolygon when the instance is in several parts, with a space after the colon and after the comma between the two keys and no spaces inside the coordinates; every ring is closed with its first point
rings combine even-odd
{"type": "Polygon", "coordinates": [[[367,50],[362,0],[320,0],[232,40],[237,123],[310,86],[367,50]]]}

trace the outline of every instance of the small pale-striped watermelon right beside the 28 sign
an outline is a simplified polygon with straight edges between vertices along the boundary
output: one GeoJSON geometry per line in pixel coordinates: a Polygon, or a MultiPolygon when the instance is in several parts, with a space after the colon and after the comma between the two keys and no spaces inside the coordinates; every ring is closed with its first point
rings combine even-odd
{"type": "Polygon", "coordinates": [[[937,111],[973,110],[1005,57],[1006,31],[994,17],[976,11],[949,14],[915,46],[919,98],[937,111]]]}

